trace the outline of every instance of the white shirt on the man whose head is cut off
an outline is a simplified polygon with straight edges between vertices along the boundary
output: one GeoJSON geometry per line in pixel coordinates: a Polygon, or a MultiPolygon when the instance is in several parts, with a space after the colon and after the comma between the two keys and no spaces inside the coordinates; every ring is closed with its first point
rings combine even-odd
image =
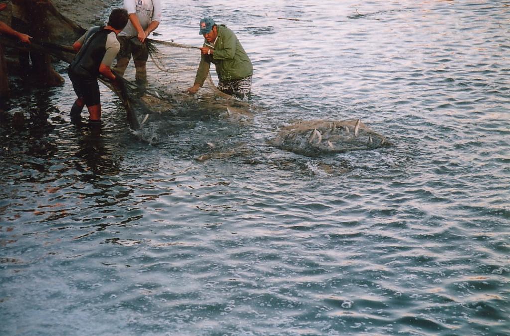
{"type": "MultiPolygon", "coordinates": [[[[161,22],[161,0],[124,0],[123,6],[127,14],[136,13],[143,30],[146,30],[152,21],[161,22]]],[[[131,20],[127,22],[119,36],[138,36],[131,20]]]]}

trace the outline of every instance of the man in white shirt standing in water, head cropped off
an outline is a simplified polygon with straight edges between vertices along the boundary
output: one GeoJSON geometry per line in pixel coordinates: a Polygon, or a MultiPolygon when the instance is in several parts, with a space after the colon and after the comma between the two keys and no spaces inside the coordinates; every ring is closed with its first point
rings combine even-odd
{"type": "Polygon", "coordinates": [[[146,64],[149,58],[145,39],[158,28],[161,22],[161,0],[124,0],[123,6],[130,20],[117,36],[120,51],[117,54],[114,70],[123,75],[133,57],[136,81],[144,84],[147,81],[146,64]]]}

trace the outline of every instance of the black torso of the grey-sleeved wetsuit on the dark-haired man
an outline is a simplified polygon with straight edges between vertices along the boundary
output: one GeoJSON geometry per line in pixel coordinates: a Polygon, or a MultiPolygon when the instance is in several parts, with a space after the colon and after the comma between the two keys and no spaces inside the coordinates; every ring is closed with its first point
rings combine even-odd
{"type": "Polygon", "coordinates": [[[86,77],[97,77],[99,65],[105,56],[106,40],[111,30],[94,27],[85,36],[85,42],[69,65],[69,71],[86,77]]]}

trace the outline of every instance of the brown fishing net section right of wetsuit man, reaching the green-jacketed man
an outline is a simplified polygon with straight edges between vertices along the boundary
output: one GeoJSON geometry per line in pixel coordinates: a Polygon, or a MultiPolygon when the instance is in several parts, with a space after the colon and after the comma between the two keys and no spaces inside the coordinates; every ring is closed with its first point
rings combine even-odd
{"type": "Polygon", "coordinates": [[[202,113],[245,122],[251,119],[249,105],[219,91],[209,75],[200,90],[190,95],[186,90],[195,80],[200,62],[198,47],[147,39],[149,59],[147,82],[138,84],[136,69],[127,66],[122,85],[114,87],[121,98],[131,128],[186,113],[202,113]]]}

